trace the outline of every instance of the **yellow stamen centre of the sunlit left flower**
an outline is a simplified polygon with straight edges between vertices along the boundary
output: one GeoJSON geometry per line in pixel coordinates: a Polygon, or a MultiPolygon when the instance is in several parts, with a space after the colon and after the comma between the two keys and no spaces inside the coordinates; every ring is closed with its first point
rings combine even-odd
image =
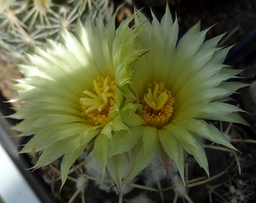
{"type": "Polygon", "coordinates": [[[86,90],[85,98],[80,99],[83,115],[88,116],[95,125],[105,125],[113,119],[109,117],[109,111],[113,110],[115,92],[114,81],[108,76],[99,77],[93,81],[94,92],[86,90]]]}

